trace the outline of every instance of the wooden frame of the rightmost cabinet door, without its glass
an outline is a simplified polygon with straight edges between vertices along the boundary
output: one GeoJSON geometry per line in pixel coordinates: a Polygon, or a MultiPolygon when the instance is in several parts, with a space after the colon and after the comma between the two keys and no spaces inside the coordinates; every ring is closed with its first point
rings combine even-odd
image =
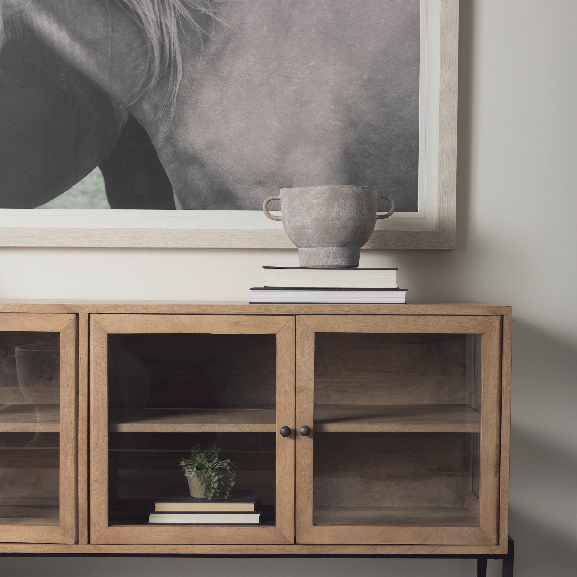
{"type": "Polygon", "coordinates": [[[309,436],[295,444],[297,543],[495,545],[499,542],[501,424],[500,316],[297,316],[296,421],[309,436]],[[315,332],[482,334],[479,526],[313,525],[315,332]]]}

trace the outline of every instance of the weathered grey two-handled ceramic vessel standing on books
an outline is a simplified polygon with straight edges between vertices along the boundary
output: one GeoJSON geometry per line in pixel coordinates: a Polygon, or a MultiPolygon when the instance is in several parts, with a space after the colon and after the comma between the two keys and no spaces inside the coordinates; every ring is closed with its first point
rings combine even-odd
{"type": "Polygon", "coordinates": [[[355,268],[374,223],[391,216],[395,203],[373,186],[299,186],[269,196],[263,212],[269,219],[282,220],[288,238],[298,247],[301,267],[355,268]],[[380,198],[391,203],[385,215],[377,215],[380,198]],[[281,216],[268,212],[271,200],[280,200],[281,216]]]}

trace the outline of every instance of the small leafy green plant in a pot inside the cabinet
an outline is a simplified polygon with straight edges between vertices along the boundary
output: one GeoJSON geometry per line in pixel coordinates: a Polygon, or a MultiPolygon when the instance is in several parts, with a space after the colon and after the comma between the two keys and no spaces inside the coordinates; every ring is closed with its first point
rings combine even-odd
{"type": "Polygon", "coordinates": [[[204,451],[196,444],[190,451],[190,458],[179,463],[188,479],[190,496],[211,500],[212,497],[228,499],[234,486],[234,464],[230,459],[221,459],[222,448],[208,445],[204,451]]]}

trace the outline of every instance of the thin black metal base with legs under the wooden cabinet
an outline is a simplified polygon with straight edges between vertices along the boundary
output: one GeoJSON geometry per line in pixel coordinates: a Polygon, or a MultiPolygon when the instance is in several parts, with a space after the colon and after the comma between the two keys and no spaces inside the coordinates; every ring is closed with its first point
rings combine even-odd
{"type": "Polygon", "coordinates": [[[181,553],[0,553],[0,557],[224,557],[237,559],[477,559],[477,577],[486,577],[487,559],[503,559],[503,577],[513,577],[515,541],[509,536],[507,553],[501,555],[347,555],[347,554],[181,554],[181,553]]]}

